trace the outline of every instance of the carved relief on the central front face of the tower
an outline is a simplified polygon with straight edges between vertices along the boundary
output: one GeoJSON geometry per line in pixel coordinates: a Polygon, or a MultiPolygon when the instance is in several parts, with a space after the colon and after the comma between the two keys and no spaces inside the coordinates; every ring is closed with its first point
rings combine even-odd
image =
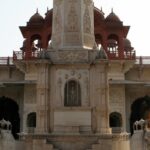
{"type": "Polygon", "coordinates": [[[75,9],[75,1],[70,1],[70,10],[68,13],[68,32],[77,32],[78,31],[78,16],[75,9]]]}

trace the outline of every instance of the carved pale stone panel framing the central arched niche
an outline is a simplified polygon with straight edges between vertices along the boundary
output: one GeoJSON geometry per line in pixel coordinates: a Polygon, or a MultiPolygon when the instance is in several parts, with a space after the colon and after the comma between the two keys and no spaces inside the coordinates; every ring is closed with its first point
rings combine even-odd
{"type": "Polygon", "coordinates": [[[64,107],[65,84],[69,80],[75,80],[81,88],[81,106],[89,106],[89,71],[88,69],[57,69],[56,71],[56,97],[55,107],[64,107]]]}

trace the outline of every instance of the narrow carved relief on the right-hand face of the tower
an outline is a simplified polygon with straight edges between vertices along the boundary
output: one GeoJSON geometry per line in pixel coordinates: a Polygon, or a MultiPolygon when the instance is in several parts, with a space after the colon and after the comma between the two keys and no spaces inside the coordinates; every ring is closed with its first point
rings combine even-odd
{"type": "Polygon", "coordinates": [[[88,34],[91,33],[91,18],[90,18],[89,9],[87,6],[84,12],[84,32],[88,34]]]}

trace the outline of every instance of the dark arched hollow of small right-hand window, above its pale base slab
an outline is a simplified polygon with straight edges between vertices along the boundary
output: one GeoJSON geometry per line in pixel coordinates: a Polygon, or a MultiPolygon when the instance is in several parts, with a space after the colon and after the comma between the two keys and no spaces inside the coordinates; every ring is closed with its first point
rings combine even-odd
{"type": "Polygon", "coordinates": [[[122,126],[122,116],[118,112],[113,112],[109,115],[110,127],[121,127],[122,126]]]}

